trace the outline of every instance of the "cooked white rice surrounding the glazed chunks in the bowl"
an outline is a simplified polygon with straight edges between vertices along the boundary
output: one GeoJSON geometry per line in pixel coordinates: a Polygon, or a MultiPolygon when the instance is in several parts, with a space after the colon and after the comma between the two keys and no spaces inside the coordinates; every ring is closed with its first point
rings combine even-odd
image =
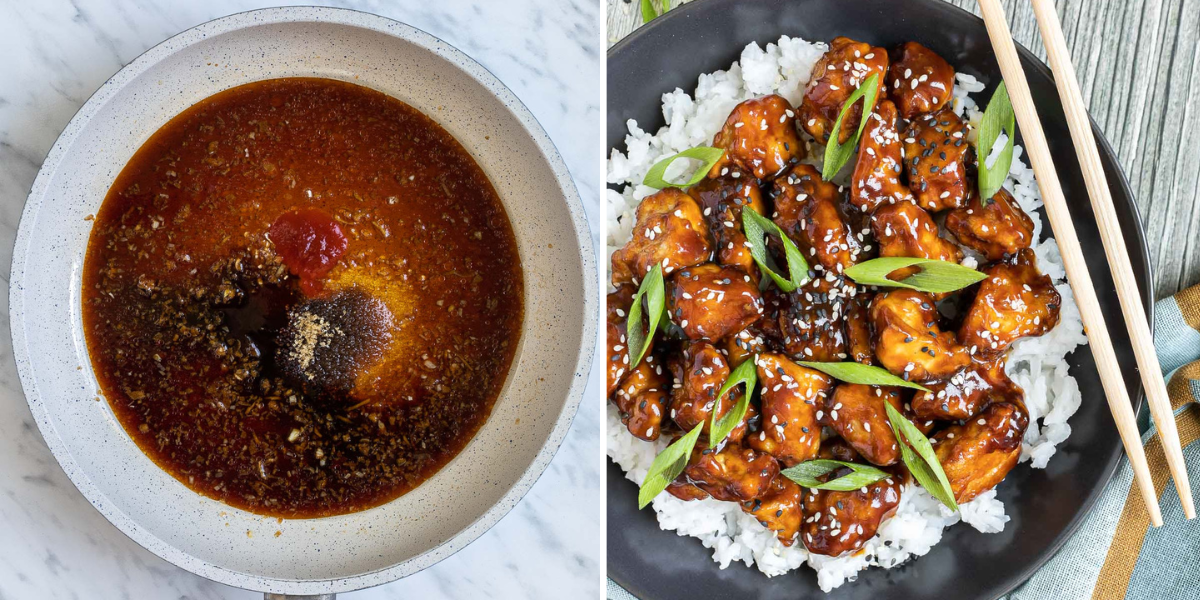
{"type": "MultiPolygon", "coordinates": [[[[610,184],[624,186],[622,192],[607,192],[608,253],[623,246],[631,234],[634,214],[642,198],[656,190],[641,185],[646,172],[660,158],[697,145],[709,145],[730,112],[739,102],[767,94],[779,94],[798,106],[812,66],[828,49],[823,43],[810,43],[794,37],[761,48],[746,46],[742,60],[727,71],[702,74],[694,96],[676,89],[662,96],[662,116],[666,126],[654,134],[638,128],[630,120],[625,152],[613,149],[608,160],[610,184]]],[[[954,88],[954,109],[973,124],[980,112],[970,94],[983,91],[976,78],[959,73],[954,88]]],[[[980,98],[980,102],[986,102],[980,98]]],[[[810,155],[814,152],[810,152],[810,155]]],[[[1034,239],[1040,238],[1042,220],[1036,212],[1042,198],[1033,172],[1021,160],[1016,146],[1013,166],[1004,187],[1033,218],[1034,239]]],[[[686,161],[677,161],[684,163],[686,161]]],[[[850,166],[854,161],[850,161],[850,166]]],[[[679,167],[684,169],[685,167],[679,167]]],[[[852,167],[848,167],[846,170],[852,167]]],[[[845,176],[845,172],[844,175],[845,176]]],[[[844,181],[842,181],[844,182],[844,181]]],[[[1062,258],[1054,239],[1042,241],[1036,248],[1038,268],[1055,280],[1062,294],[1058,325],[1042,337],[1025,338],[1013,344],[1007,371],[1025,390],[1030,410],[1030,428],[1021,445],[1021,462],[1044,468],[1055,454],[1055,446],[1070,436],[1067,420],[1079,408],[1079,384],[1067,373],[1066,355],[1087,343],[1079,308],[1066,283],[1062,258]]],[[[968,252],[970,254],[970,252],[968,252]]],[[[976,256],[964,263],[974,266],[976,256]]],[[[654,456],[666,448],[667,440],[650,444],[632,437],[620,424],[616,407],[608,404],[608,456],[625,470],[625,476],[641,484],[654,456]]],[[[902,493],[894,516],[884,521],[878,535],[866,542],[864,551],[853,556],[830,558],[810,554],[802,544],[785,547],[775,535],[744,514],[737,503],[713,499],[683,502],[661,493],[653,503],[662,529],[697,538],[712,548],[713,560],[726,568],[734,560],[757,566],[767,576],[782,575],[808,563],[817,571],[821,589],[829,592],[868,566],[890,568],[911,557],[919,557],[942,539],[942,530],[959,521],[984,533],[1004,528],[1008,516],[1004,504],[990,491],[962,504],[952,514],[923,488],[910,485],[902,493]]]]}

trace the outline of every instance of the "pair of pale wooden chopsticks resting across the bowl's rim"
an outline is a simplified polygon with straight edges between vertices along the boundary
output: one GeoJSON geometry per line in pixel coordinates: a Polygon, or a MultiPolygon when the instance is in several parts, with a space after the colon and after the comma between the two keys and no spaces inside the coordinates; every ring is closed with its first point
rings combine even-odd
{"type": "MultiPolygon", "coordinates": [[[[1063,198],[1062,186],[1058,184],[1058,174],[1055,170],[1054,158],[1050,156],[1050,148],[1046,144],[1045,133],[1042,131],[1037,109],[1033,107],[1030,84],[1025,79],[1025,72],[1021,70],[1021,62],[1016,55],[1013,34],[1008,29],[1000,0],[978,1],[983,20],[988,26],[988,36],[991,37],[991,46],[996,50],[1000,71],[1004,76],[1013,112],[1018,124],[1020,124],[1025,149],[1028,152],[1033,173],[1037,175],[1042,202],[1045,204],[1046,216],[1050,218],[1050,227],[1058,241],[1070,288],[1075,293],[1075,302],[1079,305],[1084,326],[1087,329],[1092,356],[1094,356],[1096,366],[1100,373],[1100,383],[1104,385],[1105,396],[1108,396],[1109,409],[1112,412],[1112,419],[1121,433],[1121,442],[1124,444],[1129,463],[1133,466],[1134,479],[1141,492],[1141,498],[1146,503],[1146,510],[1150,512],[1150,522],[1154,527],[1159,527],[1163,524],[1163,515],[1158,508],[1158,494],[1154,492],[1154,482],[1150,478],[1150,467],[1146,464],[1146,452],[1138,433],[1133,408],[1129,406],[1129,396],[1121,380],[1122,368],[1117,362],[1112,340],[1109,337],[1109,330],[1104,323],[1104,314],[1096,299],[1096,289],[1092,287],[1092,278],[1087,272],[1084,251],[1079,246],[1079,236],[1075,234],[1070,212],[1067,211],[1067,200],[1063,198]]],[[[1096,212],[1096,222],[1104,242],[1104,254],[1108,257],[1117,296],[1121,299],[1121,313],[1133,342],[1134,355],[1138,359],[1138,372],[1141,374],[1146,398],[1150,401],[1150,413],[1158,427],[1158,434],[1166,454],[1166,464],[1175,479],[1175,487],[1180,492],[1180,502],[1183,504],[1183,514],[1187,518],[1194,518],[1196,511],[1192,502],[1192,486],[1188,482],[1187,466],[1183,463],[1183,449],[1180,446],[1175,415],[1166,397],[1166,384],[1163,382],[1158,358],[1154,354],[1153,338],[1150,326],[1146,324],[1145,306],[1141,304],[1138,283],[1134,281],[1133,268],[1129,264],[1129,253],[1126,251],[1121,236],[1121,224],[1112,208],[1109,184],[1104,175],[1104,167],[1100,164],[1100,155],[1096,149],[1096,138],[1092,136],[1092,125],[1087,118],[1084,97],[1079,91],[1075,67],[1070,64],[1070,53],[1067,50],[1067,42],[1062,35],[1062,25],[1058,23],[1052,0],[1031,1],[1038,28],[1042,31],[1042,41],[1045,43],[1046,55],[1050,58],[1050,68],[1055,74],[1058,96],[1062,98],[1063,110],[1067,114],[1072,142],[1074,142],[1075,152],[1079,155],[1079,163],[1084,170],[1087,193],[1092,199],[1092,211],[1096,212]]]]}

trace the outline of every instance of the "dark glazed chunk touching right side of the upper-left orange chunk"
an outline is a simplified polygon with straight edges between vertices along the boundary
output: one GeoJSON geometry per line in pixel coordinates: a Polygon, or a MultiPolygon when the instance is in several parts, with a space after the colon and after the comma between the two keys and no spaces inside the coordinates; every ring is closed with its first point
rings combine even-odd
{"type": "Polygon", "coordinates": [[[767,212],[758,182],[751,178],[706,179],[688,188],[688,194],[700,203],[708,230],[713,233],[716,262],[742,269],[757,283],[758,268],[742,230],[742,210],[749,206],[760,215],[767,212]]]}

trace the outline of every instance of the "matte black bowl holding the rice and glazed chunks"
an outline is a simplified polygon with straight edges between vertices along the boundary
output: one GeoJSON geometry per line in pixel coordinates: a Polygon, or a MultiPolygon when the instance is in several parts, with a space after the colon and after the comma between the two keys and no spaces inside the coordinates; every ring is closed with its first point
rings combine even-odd
{"type": "MultiPolygon", "coordinates": [[[[628,119],[636,119],[646,131],[660,127],[662,94],[676,88],[690,92],[701,73],[727,68],[748,43],[766,46],[781,35],[827,42],[844,35],[884,48],[913,40],[959,71],[988,82],[989,89],[979,98],[990,97],[1001,79],[983,20],[938,0],[697,0],[608,50],[608,146],[623,148],[628,119]]],[[[1121,326],[1120,304],[1050,71],[1028,50],[1019,52],[1087,252],[1100,307],[1109,318],[1117,358],[1132,366],[1133,350],[1121,326]]],[[[1141,220],[1111,148],[1099,130],[1096,137],[1150,318],[1153,290],[1141,220]]],[[[870,569],[857,581],[823,594],[808,568],[773,578],[742,563],[719,569],[698,540],[664,532],[653,510],[638,511],[637,488],[610,462],[608,576],[642,600],[1003,595],[1028,578],[1075,530],[1112,476],[1122,452],[1091,353],[1081,348],[1068,359],[1084,404],[1069,421],[1070,438],[1058,446],[1046,469],[1020,466],[1000,485],[1000,499],[1012,517],[1002,533],[980,534],[968,526],[954,526],[929,554],[895,569],[870,569]]],[[[1124,380],[1136,409],[1141,385],[1135,368],[1127,370],[1124,380]]]]}

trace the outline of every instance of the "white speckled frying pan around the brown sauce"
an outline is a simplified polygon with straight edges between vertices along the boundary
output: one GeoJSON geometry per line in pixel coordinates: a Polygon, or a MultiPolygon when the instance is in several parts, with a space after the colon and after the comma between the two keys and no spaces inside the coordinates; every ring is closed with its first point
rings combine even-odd
{"type": "Polygon", "coordinates": [[[270,8],[185,31],[122,68],[50,150],[12,263],[13,348],[30,409],[80,492],[155,554],[274,594],[332,594],[419,571],[478,538],[550,462],[575,415],[596,335],[595,257],[566,167],[491,73],[410,26],[331,8],[270,8]],[[275,77],[329,77],[437,120],[494,184],[524,270],[521,346],[491,419],[416,490],[367,511],[277,522],[190,491],[97,402],[80,270],[101,200],[133,152],[188,106],[275,77]],[[275,532],[282,532],[278,536],[275,532]]]}

